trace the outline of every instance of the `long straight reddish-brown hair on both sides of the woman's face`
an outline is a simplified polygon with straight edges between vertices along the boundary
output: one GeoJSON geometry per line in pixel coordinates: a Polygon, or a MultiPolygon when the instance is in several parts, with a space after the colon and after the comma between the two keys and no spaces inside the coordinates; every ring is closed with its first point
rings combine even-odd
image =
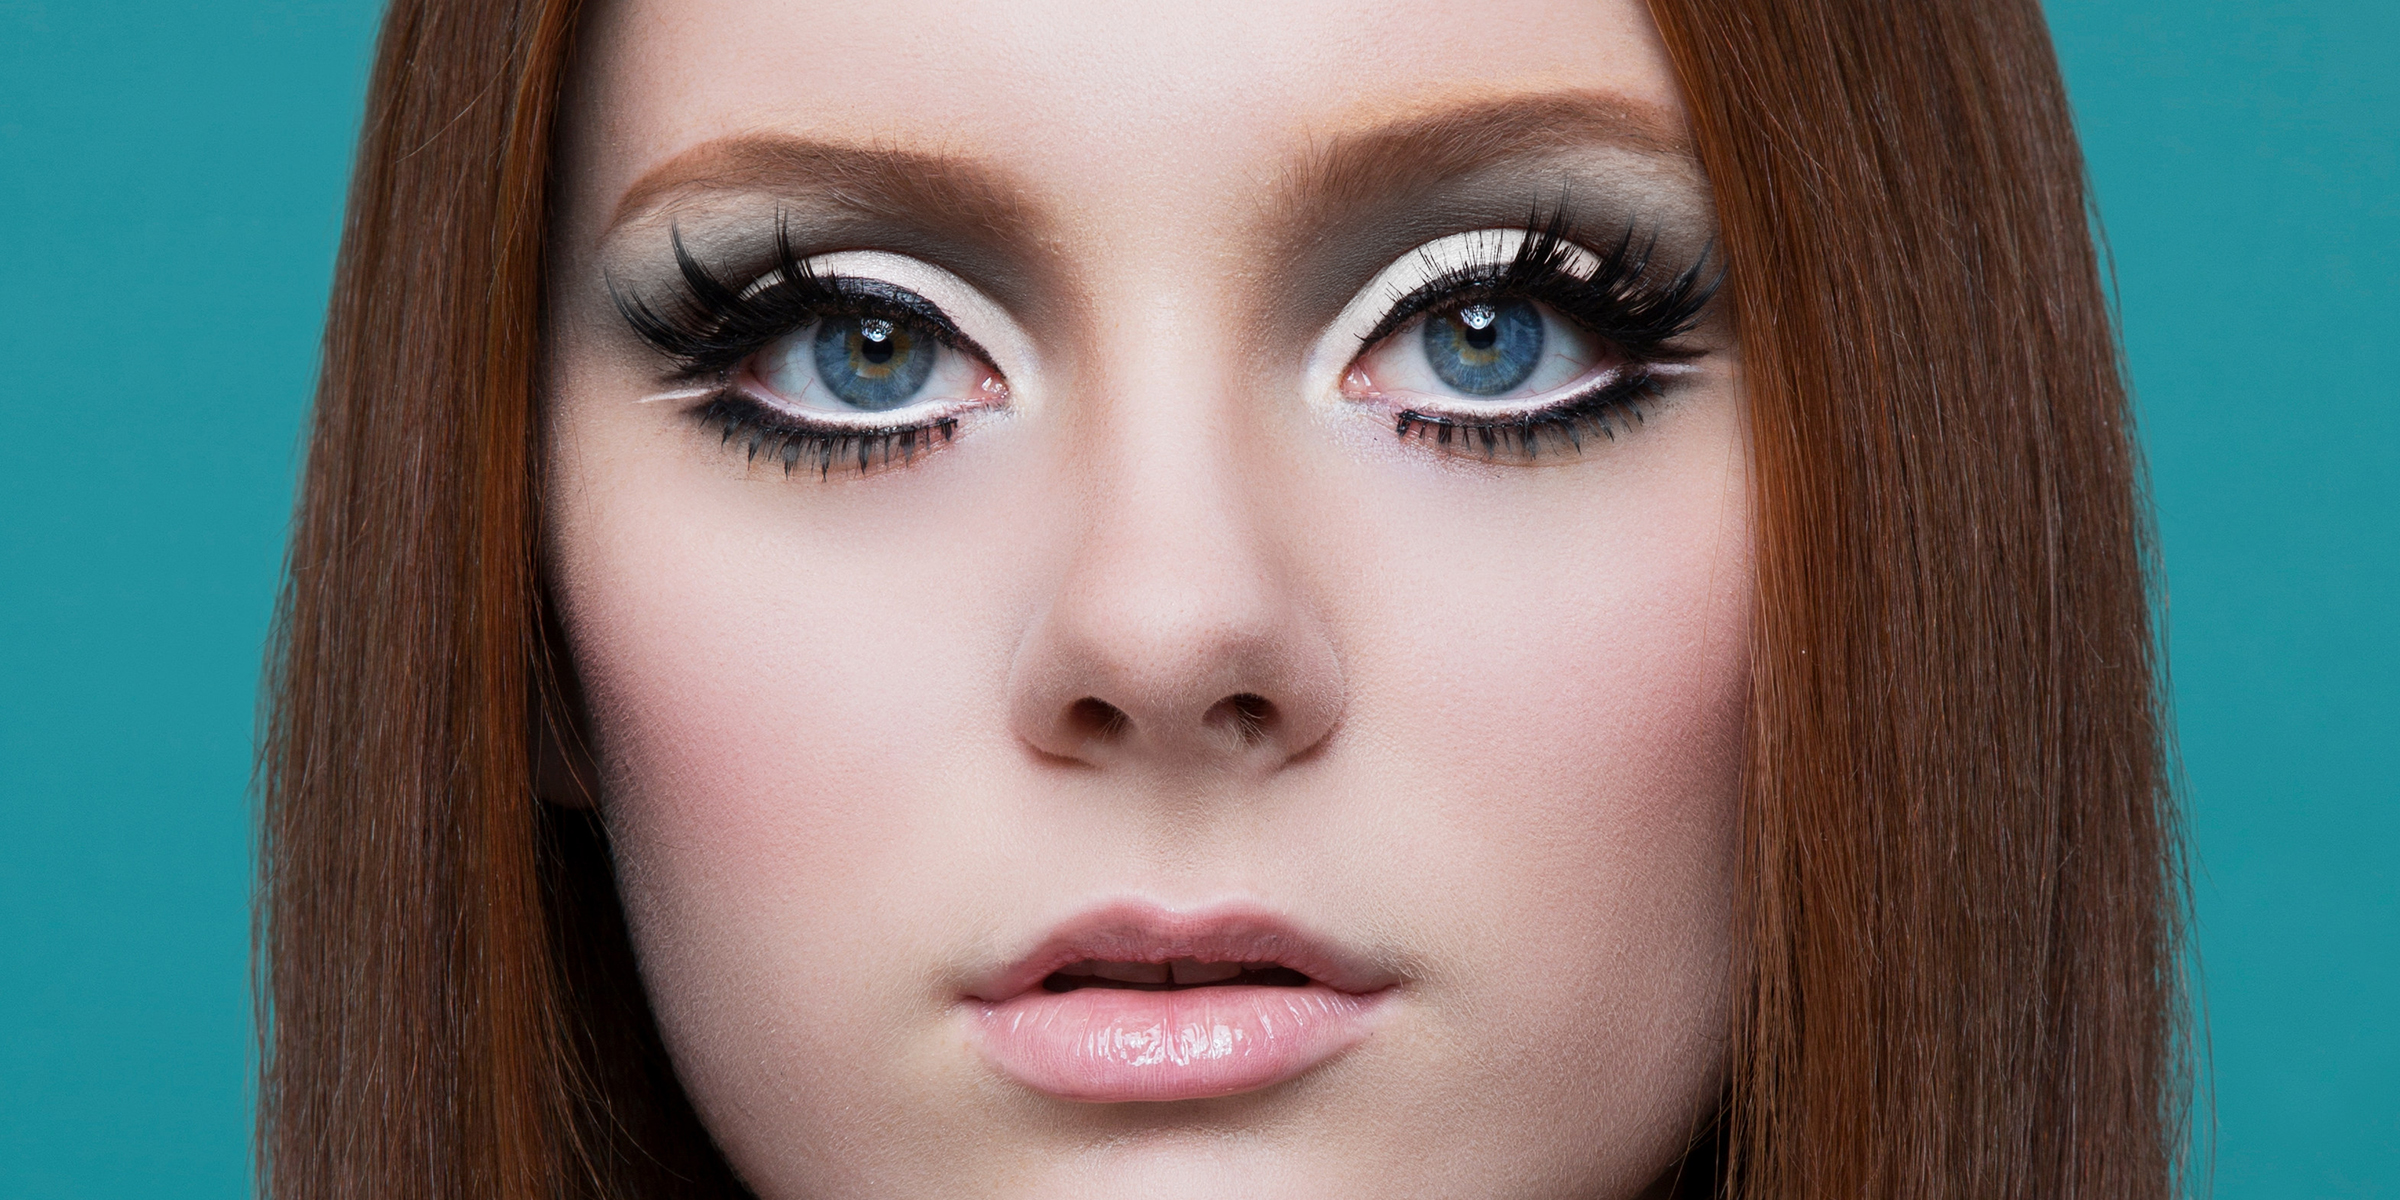
{"type": "MultiPolygon", "coordinates": [[[[634,974],[538,581],[578,0],[394,0],[262,749],[262,1181],[742,1195],[634,974]]],[[[2148,538],[2035,0],[1651,0],[1757,454],[1742,1198],[2153,1198],[2184,1130],[2148,538]]]]}

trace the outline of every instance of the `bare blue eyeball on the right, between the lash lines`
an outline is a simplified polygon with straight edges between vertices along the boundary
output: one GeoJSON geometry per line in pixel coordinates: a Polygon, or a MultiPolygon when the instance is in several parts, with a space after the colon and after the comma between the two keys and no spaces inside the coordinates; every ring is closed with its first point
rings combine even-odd
{"type": "Polygon", "coordinates": [[[1394,398],[1517,401],[1613,365],[1598,338],[1548,305],[1493,298],[1392,331],[1358,355],[1351,384],[1394,398]]]}

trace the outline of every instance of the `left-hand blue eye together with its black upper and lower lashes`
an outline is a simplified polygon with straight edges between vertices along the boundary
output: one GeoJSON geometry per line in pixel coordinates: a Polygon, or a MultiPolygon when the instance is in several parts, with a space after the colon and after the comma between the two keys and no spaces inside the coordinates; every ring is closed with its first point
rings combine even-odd
{"type": "MultiPolygon", "coordinates": [[[[955,437],[967,413],[1008,406],[991,355],[922,293],[866,274],[821,271],[895,254],[802,259],[778,223],[775,259],[734,288],[670,233],[682,293],[665,305],[610,283],[619,314],[670,360],[670,382],[703,384],[689,413],[749,461],[866,473],[910,463],[955,437]]],[[[900,274],[934,274],[924,264],[900,274]]],[[[953,281],[955,283],[955,281],[953,281]]]]}

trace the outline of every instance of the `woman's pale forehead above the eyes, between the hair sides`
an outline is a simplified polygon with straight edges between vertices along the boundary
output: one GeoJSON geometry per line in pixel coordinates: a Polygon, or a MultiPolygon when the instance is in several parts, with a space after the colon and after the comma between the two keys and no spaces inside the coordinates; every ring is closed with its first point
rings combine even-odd
{"type": "Polygon", "coordinates": [[[761,139],[967,163],[979,197],[1085,235],[1298,199],[1296,175],[1356,187],[1394,156],[1466,170],[1488,139],[1682,156],[1639,0],[598,5],[569,106],[574,223],[766,173],[739,154],[761,139]]]}

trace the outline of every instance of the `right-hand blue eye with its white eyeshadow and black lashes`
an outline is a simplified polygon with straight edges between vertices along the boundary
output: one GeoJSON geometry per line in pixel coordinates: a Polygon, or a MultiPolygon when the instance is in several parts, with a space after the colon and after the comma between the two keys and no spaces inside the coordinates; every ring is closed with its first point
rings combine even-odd
{"type": "Polygon", "coordinates": [[[1558,216],[1428,242],[1378,281],[1392,300],[1339,391],[1404,439],[1483,458],[1582,451],[1694,370],[1702,350],[1680,338],[1723,276],[1709,259],[1658,271],[1632,230],[1594,252],[1558,216]]]}

